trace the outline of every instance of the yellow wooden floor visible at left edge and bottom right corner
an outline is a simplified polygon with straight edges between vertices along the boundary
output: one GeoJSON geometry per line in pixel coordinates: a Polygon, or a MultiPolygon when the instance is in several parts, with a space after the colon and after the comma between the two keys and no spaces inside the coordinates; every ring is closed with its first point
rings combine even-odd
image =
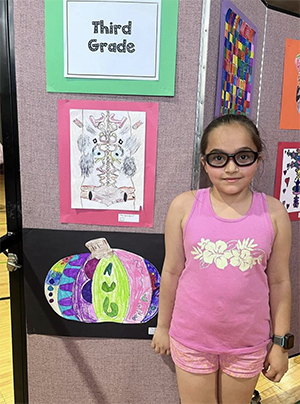
{"type": "MultiPolygon", "coordinates": [[[[4,178],[3,174],[0,174],[0,236],[5,233],[4,178]]],[[[6,256],[0,254],[0,299],[8,296],[9,277],[6,256]]],[[[256,388],[262,397],[262,404],[295,404],[300,400],[300,356],[290,359],[289,371],[280,383],[272,383],[261,375],[256,388]]],[[[0,404],[14,404],[10,300],[0,300],[0,404]]]]}

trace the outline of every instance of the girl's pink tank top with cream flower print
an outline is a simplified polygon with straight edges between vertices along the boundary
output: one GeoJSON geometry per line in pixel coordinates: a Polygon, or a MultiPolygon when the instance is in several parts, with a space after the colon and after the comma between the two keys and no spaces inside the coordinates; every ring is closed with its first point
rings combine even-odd
{"type": "Polygon", "coordinates": [[[267,262],[274,240],[266,196],[253,193],[246,215],[217,216],[200,189],[183,231],[185,268],[170,335],[198,351],[254,352],[270,341],[267,262]]]}

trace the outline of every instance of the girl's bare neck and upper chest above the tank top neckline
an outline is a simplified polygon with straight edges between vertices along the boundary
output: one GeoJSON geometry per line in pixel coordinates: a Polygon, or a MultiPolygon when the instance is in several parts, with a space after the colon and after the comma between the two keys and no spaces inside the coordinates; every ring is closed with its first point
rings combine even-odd
{"type": "Polygon", "coordinates": [[[238,194],[220,193],[215,187],[210,189],[210,201],[216,215],[225,219],[244,216],[252,204],[252,191],[246,188],[238,194]]]}

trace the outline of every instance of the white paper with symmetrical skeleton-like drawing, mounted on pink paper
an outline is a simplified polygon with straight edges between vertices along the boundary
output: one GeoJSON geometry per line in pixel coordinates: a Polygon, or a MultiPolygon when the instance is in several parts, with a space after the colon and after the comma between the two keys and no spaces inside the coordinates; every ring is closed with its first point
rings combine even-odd
{"type": "Polygon", "coordinates": [[[145,112],[70,110],[72,207],[143,206],[145,112]]]}

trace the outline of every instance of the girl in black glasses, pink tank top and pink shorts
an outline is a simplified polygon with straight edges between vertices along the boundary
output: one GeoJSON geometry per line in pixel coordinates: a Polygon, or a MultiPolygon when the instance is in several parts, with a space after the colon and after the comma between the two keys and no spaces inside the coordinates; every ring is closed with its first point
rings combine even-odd
{"type": "Polygon", "coordinates": [[[182,404],[249,404],[262,370],[279,382],[288,369],[290,220],[250,188],[262,159],[250,119],[216,118],[201,154],[212,187],[170,206],[152,347],[171,353],[182,404]]]}

